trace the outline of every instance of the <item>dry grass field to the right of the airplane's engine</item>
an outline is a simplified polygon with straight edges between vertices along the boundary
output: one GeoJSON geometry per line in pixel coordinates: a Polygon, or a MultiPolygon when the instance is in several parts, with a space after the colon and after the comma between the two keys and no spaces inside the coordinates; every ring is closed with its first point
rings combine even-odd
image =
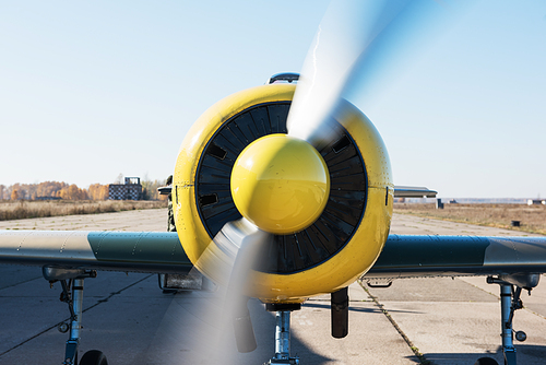
{"type": "Polygon", "coordinates": [[[546,235],[546,205],[444,204],[443,207],[436,209],[435,204],[395,203],[394,212],[546,235]],[[521,226],[512,227],[512,221],[520,221],[521,226]]]}

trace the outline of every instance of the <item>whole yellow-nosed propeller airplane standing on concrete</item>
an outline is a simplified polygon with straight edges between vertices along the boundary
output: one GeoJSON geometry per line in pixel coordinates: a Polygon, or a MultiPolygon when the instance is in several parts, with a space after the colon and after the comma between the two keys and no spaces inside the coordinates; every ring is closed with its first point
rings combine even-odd
{"type": "MultiPolygon", "coordinates": [[[[512,319],[521,291],[546,272],[546,238],[390,235],[395,197],[436,192],[393,184],[380,133],[340,96],[347,78],[334,78],[340,87],[319,80],[317,95],[309,72],[301,74],[276,74],[227,96],[193,125],[170,189],[176,232],[0,232],[0,263],[41,267],[47,281],[61,282],[71,311],[63,364],[76,363],[83,283],[97,270],[198,270],[235,293],[241,352],[257,345],[244,298],[260,299],[276,314],[269,364],[299,364],[289,351],[289,319],[309,297],[331,294],[332,335],[344,338],[347,286],[357,279],[387,286],[404,278],[485,275],[500,286],[505,363],[517,363],[512,319]],[[316,123],[301,132],[294,118],[306,111],[316,123]]],[[[91,351],[79,364],[107,361],[91,351]]]]}

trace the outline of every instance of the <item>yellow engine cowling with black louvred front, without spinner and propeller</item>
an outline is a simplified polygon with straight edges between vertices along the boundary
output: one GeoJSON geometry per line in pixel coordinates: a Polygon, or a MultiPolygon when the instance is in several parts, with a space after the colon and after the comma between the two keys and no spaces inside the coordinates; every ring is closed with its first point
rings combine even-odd
{"type": "MultiPolygon", "coordinates": [[[[206,110],[186,136],[173,200],[178,235],[192,262],[225,223],[240,217],[229,189],[233,165],[253,140],[286,133],[294,91],[292,84],[270,84],[233,94],[206,110]]],[[[385,146],[353,105],[336,120],[343,127],[340,137],[319,151],[331,181],[322,215],[305,231],[275,235],[247,295],[265,303],[298,303],[335,292],[369,270],[381,252],[393,201],[385,146]]],[[[219,280],[214,270],[204,274],[219,280]]]]}

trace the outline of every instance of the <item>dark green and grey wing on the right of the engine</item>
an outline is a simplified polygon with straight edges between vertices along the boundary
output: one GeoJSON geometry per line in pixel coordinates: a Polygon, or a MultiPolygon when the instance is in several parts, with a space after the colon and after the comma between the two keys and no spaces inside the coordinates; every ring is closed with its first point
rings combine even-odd
{"type": "Polygon", "coordinates": [[[390,235],[365,279],[546,272],[546,237],[390,235]]]}

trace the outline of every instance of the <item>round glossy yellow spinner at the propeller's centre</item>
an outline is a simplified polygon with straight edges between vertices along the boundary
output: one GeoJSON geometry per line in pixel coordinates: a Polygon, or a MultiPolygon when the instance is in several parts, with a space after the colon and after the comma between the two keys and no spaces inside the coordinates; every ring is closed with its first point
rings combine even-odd
{"type": "Polygon", "coordinates": [[[273,234],[307,228],[330,193],[324,160],[308,142],[269,134],[250,143],[232,172],[235,205],[248,221],[273,234]]]}

